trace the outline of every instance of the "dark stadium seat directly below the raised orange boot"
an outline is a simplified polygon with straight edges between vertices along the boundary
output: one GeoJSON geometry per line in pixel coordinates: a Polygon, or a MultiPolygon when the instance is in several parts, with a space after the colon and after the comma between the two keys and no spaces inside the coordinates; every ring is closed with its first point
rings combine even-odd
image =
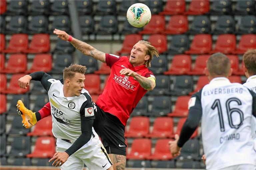
{"type": "MultiPolygon", "coordinates": [[[[17,102],[16,102],[17,103],[17,102]]],[[[14,117],[11,125],[11,129],[8,134],[15,134],[15,135],[26,135],[30,129],[24,128],[22,126],[22,118],[18,114],[14,117]]]]}

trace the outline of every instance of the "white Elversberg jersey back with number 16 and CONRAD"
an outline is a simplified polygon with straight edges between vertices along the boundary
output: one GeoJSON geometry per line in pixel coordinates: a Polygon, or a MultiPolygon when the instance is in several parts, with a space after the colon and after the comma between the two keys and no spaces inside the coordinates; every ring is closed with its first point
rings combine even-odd
{"type": "Polygon", "coordinates": [[[256,151],[251,135],[252,93],[225,77],[212,79],[198,93],[201,93],[206,169],[255,165],[256,151]]]}

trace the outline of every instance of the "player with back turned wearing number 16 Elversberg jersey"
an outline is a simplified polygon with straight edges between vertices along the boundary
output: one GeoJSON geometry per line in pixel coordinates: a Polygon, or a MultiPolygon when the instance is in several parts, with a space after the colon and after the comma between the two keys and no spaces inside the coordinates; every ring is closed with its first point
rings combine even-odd
{"type": "Polygon", "coordinates": [[[251,119],[256,117],[256,94],[230,83],[230,61],[222,53],[211,55],[205,72],[210,83],[192,95],[180,137],[176,134],[169,142],[173,156],[179,155],[202,118],[206,169],[255,169],[251,119]]]}

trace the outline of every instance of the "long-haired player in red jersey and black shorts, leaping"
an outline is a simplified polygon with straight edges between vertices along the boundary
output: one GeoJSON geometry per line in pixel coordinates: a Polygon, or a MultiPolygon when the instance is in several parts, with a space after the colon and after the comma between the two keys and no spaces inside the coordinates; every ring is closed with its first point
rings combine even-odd
{"type": "MultiPolygon", "coordinates": [[[[96,102],[97,113],[93,127],[101,137],[114,169],[125,169],[125,125],[140,99],[155,87],[155,76],[148,67],[153,56],[159,56],[157,49],[147,41],[139,41],[133,46],[128,58],[101,52],[64,31],[55,29],[53,33],[61,40],[69,41],[85,55],[90,55],[111,68],[106,87],[96,102]]],[[[29,85],[27,80],[23,80],[23,83],[29,85]]],[[[25,107],[20,110],[23,112],[22,122],[26,128],[32,127],[51,113],[49,103],[36,113],[25,107]]]]}

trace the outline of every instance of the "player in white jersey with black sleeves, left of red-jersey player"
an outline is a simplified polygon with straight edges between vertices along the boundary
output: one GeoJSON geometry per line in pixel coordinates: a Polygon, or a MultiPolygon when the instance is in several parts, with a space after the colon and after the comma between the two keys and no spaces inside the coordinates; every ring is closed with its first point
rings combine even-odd
{"type": "MultiPolygon", "coordinates": [[[[84,89],[86,66],[74,64],[63,71],[62,84],[45,72],[34,72],[18,80],[26,88],[30,80],[41,81],[48,92],[52,132],[57,138],[56,153],[49,160],[62,170],[80,169],[84,164],[91,170],[113,170],[110,158],[92,125],[96,106],[84,89]]],[[[19,105],[23,105],[18,101],[19,105]]],[[[20,106],[21,107],[21,106],[20,106]]]]}

